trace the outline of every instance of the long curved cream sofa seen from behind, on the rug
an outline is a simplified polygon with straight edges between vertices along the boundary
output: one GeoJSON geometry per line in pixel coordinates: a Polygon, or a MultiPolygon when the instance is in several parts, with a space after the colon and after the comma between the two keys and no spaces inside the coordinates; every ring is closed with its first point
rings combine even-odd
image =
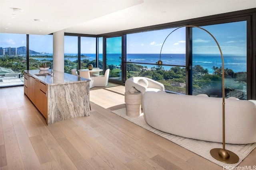
{"type": "MultiPolygon", "coordinates": [[[[146,122],[160,131],[222,143],[222,98],[145,92],[146,122]]],[[[225,100],[226,143],[256,142],[256,100],[225,100]]]]}

